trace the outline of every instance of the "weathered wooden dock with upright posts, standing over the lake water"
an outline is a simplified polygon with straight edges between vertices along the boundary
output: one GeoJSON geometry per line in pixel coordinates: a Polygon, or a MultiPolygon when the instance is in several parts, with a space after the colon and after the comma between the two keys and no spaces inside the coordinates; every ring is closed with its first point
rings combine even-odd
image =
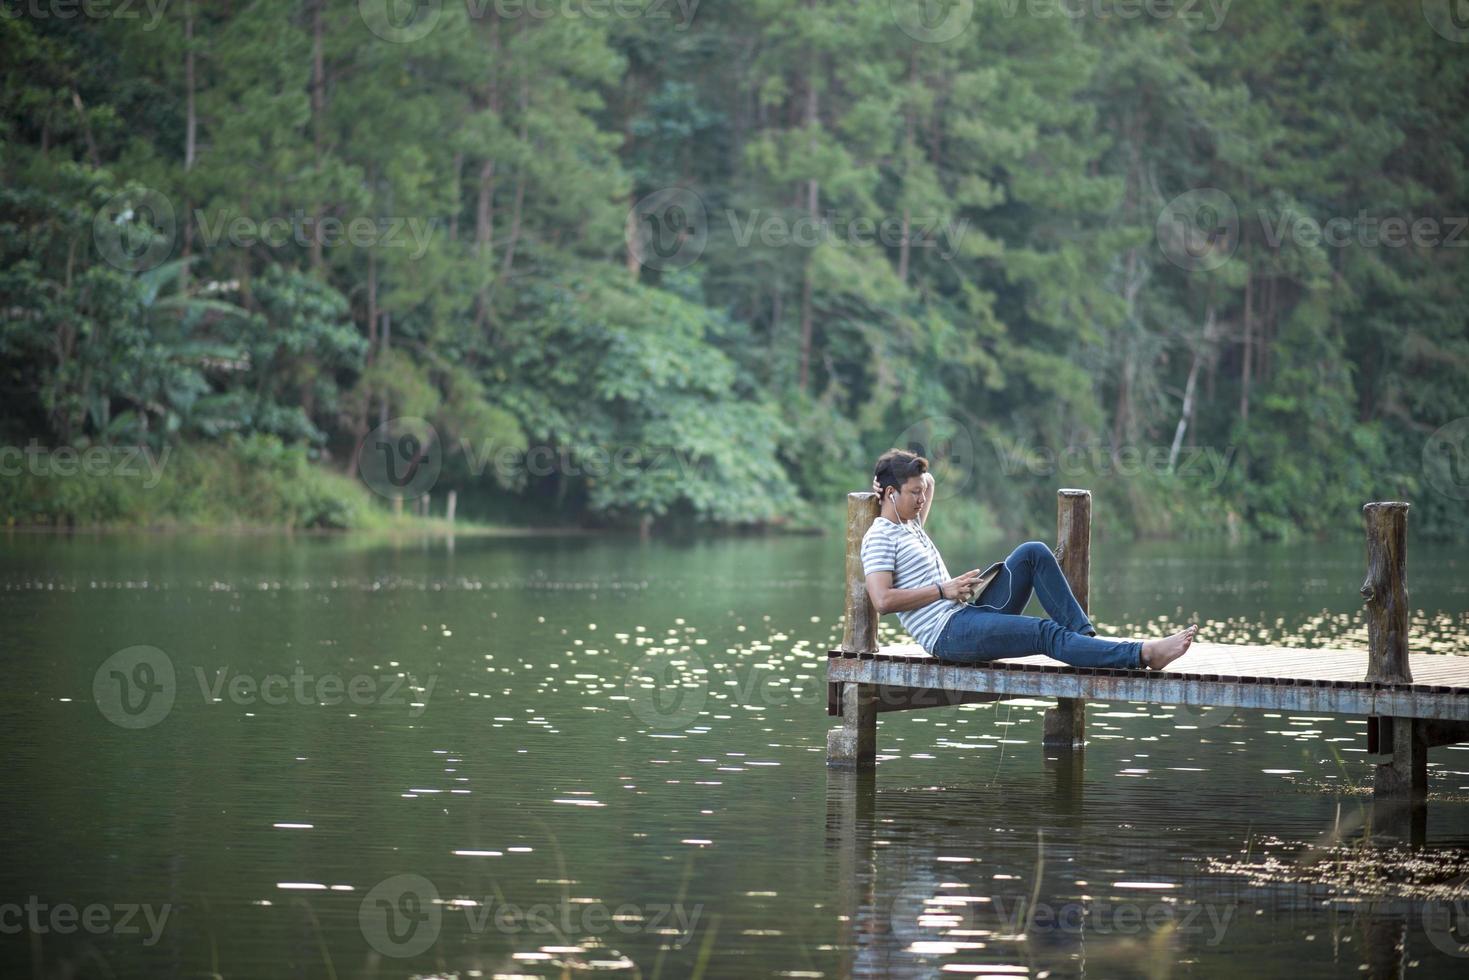
{"type": "MultiPolygon", "coordinates": [[[[1363,507],[1368,573],[1360,592],[1368,608],[1368,651],[1194,642],[1166,670],[1112,670],[1069,667],[1043,655],[950,664],[911,644],[878,648],[877,613],[861,563],[862,535],[877,516],[877,497],[851,494],[846,629],[842,648],[827,657],[827,713],[840,717],[842,727],[827,736],[827,764],[873,768],[880,713],[1006,698],[1059,698],[1046,713],[1043,745],[1066,752],[1086,743],[1087,701],[1351,714],[1369,718],[1366,748],[1382,757],[1375,796],[1421,810],[1428,748],[1469,742],[1469,657],[1407,652],[1407,507],[1363,507]]],[[[1056,558],[1087,608],[1090,491],[1059,491],[1056,526],[1056,558]]]]}

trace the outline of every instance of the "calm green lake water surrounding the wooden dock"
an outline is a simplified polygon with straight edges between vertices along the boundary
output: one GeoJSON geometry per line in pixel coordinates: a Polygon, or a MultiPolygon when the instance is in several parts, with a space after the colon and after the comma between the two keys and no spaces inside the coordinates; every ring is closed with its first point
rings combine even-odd
{"type": "MultiPolygon", "coordinates": [[[[908,711],[829,774],[840,550],[0,539],[0,976],[1466,974],[1463,748],[1421,849],[1354,718],[1097,705],[1083,770],[1044,702],[908,711]]],[[[1091,610],[1362,646],[1363,567],[1097,541],[1091,610]]],[[[1415,651],[1469,654],[1465,569],[1410,542],[1415,651]]]]}

